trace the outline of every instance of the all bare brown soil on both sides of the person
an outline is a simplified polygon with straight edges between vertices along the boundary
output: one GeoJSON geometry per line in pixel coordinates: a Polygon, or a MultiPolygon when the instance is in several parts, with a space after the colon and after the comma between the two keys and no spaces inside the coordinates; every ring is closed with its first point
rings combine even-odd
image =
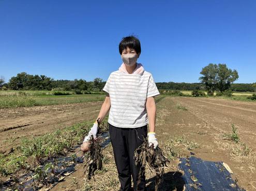
{"type": "MultiPolygon", "coordinates": [[[[97,101],[2,109],[0,110],[1,152],[8,152],[11,148],[16,149],[21,136],[31,136],[31,133],[39,136],[85,120],[95,120],[102,103],[103,101],[97,101]],[[14,141],[5,141],[8,138],[13,138],[14,141]]],[[[242,185],[246,190],[256,189],[255,129],[256,103],[254,102],[167,96],[157,103],[156,135],[159,147],[165,151],[165,154],[169,154],[170,144],[174,143],[179,157],[190,157],[192,152],[194,157],[203,160],[223,161],[233,171],[238,185],[242,185]],[[178,105],[187,110],[178,109],[178,105]],[[223,136],[231,133],[231,124],[238,128],[239,143],[223,136]]],[[[81,155],[82,152],[78,154],[81,155]]],[[[103,155],[104,168],[96,173],[95,179],[90,181],[84,179],[83,164],[78,164],[77,171],[54,186],[52,190],[118,190],[119,181],[111,144],[103,150],[103,155]]],[[[182,172],[178,173],[178,163],[179,159],[175,158],[169,167],[165,168],[163,183],[159,190],[183,189],[183,181],[180,180],[182,172]]],[[[154,175],[147,169],[148,190],[154,190],[153,178],[154,175]]]]}

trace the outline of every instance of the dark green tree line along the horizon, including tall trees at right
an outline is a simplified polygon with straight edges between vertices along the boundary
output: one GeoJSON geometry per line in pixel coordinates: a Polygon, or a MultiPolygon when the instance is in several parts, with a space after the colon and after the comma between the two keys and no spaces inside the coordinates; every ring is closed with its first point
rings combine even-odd
{"type": "MultiPolygon", "coordinates": [[[[199,80],[201,83],[175,83],[175,82],[157,82],[159,90],[202,90],[209,94],[216,90],[224,92],[225,90],[237,92],[256,92],[255,83],[233,83],[238,79],[238,72],[231,70],[226,64],[208,64],[202,68],[202,75],[199,80]]],[[[29,75],[25,72],[11,77],[8,83],[5,83],[4,76],[0,78],[0,89],[2,90],[55,90],[64,91],[84,90],[84,91],[102,91],[106,81],[101,78],[95,78],[94,81],[84,79],[74,80],[54,80],[45,75],[29,75]]]]}

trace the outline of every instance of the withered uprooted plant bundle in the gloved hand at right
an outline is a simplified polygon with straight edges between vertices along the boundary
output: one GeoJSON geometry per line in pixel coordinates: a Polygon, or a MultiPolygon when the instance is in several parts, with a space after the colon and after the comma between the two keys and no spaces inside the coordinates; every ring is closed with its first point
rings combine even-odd
{"type": "Polygon", "coordinates": [[[148,164],[151,172],[155,171],[155,190],[158,190],[158,186],[161,183],[161,178],[164,173],[164,166],[170,161],[162,154],[162,149],[157,147],[156,149],[148,147],[148,140],[144,138],[143,144],[134,151],[135,165],[140,164],[141,169],[139,171],[138,185],[141,182],[141,176],[145,173],[146,164],[148,164]]]}

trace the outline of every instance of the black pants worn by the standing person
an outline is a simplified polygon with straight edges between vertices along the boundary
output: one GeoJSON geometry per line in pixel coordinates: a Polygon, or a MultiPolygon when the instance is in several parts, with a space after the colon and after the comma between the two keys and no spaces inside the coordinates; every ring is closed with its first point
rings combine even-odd
{"type": "MultiPolygon", "coordinates": [[[[134,151],[143,143],[143,138],[147,136],[147,125],[138,128],[118,128],[109,124],[109,133],[118,178],[121,183],[120,190],[132,190],[131,175],[133,179],[133,189],[136,190],[140,166],[139,164],[135,165],[133,156],[134,151]]],[[[141,177],[138,190],[146,190],[145,175],[141,177]]]]}

